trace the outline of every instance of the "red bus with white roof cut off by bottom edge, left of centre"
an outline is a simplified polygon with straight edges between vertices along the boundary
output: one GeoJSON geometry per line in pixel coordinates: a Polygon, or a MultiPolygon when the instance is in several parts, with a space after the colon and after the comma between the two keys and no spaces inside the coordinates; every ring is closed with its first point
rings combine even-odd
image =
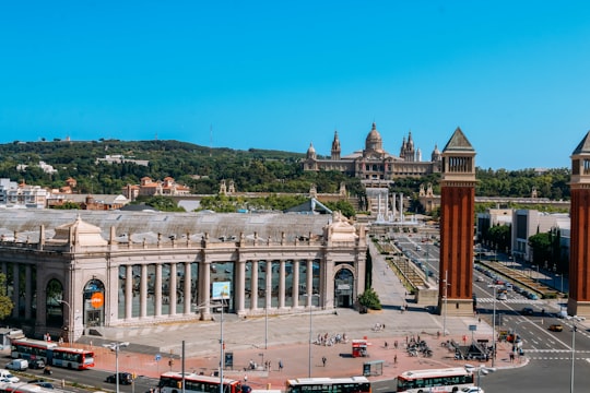
{"type": "MultiPolygon", "coordinates": [[[[160,393],[181,393],[182,373],[168,371],[160,376],[160,393]]],[[[219,393],[220,378],[199,376],[185,372],[186,393],[219,393]]],[[[241,383],[236,380],[223,379],[223,393],[241,393],[241,383]]]]}

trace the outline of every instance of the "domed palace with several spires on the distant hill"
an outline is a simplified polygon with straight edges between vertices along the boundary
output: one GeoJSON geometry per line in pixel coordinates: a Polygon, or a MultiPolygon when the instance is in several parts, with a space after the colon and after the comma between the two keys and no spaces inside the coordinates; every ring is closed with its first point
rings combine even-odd
{"type": "Polygon", "coordinates": [[[421,177],[428,174],[440,172],[441,155],[435,145],[430,160],[422,160],[422,152],[414,146],[412,132],[402,141],[400,155],[394,156],[382,147],[382,139],[377,126],[373,123],[366,141],[365,148],[347,156],[341,156],[338,131],[334,132],[330,158],[318,158],[314,145],[307,150],[303,162],[304,170],[338,170],[366,182],[389,181],[398,177],[421,177]]]}

